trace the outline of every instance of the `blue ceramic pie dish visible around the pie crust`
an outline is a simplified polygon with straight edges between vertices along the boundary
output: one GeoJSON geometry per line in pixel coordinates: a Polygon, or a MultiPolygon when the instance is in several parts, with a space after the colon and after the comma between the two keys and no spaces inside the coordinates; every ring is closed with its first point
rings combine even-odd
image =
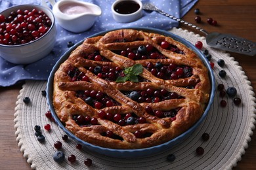
{"type": "MultiPolygon", "coordinates": [[[[139,158],[139,157],[142,157],[142,156],[149,156],[149,155],[161,152],[163,150],[167,150],[168,148],[171,148],[171,147],[175,146],[175,144],[182,143],[182,141],[184,141],[184,139],[189,137],[190,134],[198,126],[200,126],[200,124],[203,122],[203,120],[207,116],[207,113],[209,112],[211,104],[213,103],[214,92],[215,92],[215,78],[214,78],[214,75],[213,75],[213,71],[211,69],[211,65],[209,65],[209,61],[207,61],[207,59],[205,59],[202,52],[200,50],[198,50],[198,48],[196,48],[193,44],[186,41],[185,39],[182,39],[181,37],[179,37],[177,35],[174,35],[173,33],[170,33],[168,31],[162,31],[160,29],[152,29],[152,28],[144,28],[144,27],[129,27],[129,29],[137,29],[137,30],[142,30],[142,31],[147,31],[147,32],[152,32],[152,33],[159,33],[161,35],[171,37],[171,38],[175,39],[175,41],[182,42],[182,44],[185,44],[186,46],[188,46],[188,48],[191,48],[194,52],[196,52],[196,54],[199,56],[199,58],[202,59],[203,63],[205,64],[205,67],[207,67],[207,69],[208,69],[209,79],[211,81],[211,93],[210,93],[210,97],[209,97],[209,103],[208,103],[207,107],[205,108],[205,112],[203,112],[202,117],[198,120],[198,122],[196,122],[196,124],[194,124],[194,126],[190,127],[190,129],[188,129],[187,131],[185,131],[184,133],[182,133],[181,135],[179,135],[175,139],[172,139],[171,141],[168,141],[168,142],[163,143],[163,144],[159,144],[157,146],[152,146],[152,147],[148,147],[148,148],[140,148],[140,149],[112,149],[112,148],[104,148],[104,147],[101,147],[101,146],[96,146],[96,145],[91,144],[91,143],[87,143],[85,141],[82,141],[78,137],[76,137],[73,133],[71,133],[70,131],[68,131],[68,129],[66,129],[64,127],[62,122],[60,122],[60,120],[58,119],[58,116],[56,116],[56,113],[55,113],[54,107],[53,107],[53,79],[54,79],[54,73],[57,71],[60,64],[63,63],[70,56],[70,53],[73,50],[75,50],[75,48],[77,48],[77,46],[82,44],[83,41],[80,41],[77,44],[75,44],[74,46],[72,46],[72,48],[70,48],[70,50],[68,50],[57,61],[56,65],[54,65],[53,70],[51,71],[51,74],[50,74],[48,82],[47,82],[47,103],[48,103],[49,108],[50,108],[50,110],[53,114],[53,117],[54,117],[54,120],[55,120],[56,124],[58,124],[58,126],[60,126],[60,128],[71,139],[74,139],[74,141],[76,143],[80,143],[83,146],[83,148],[92,150],[92,151],[97,152],[99,154],[104,154],[106,156],[111,156],[111,157],[114,157],[114,158],[139,158]]],[[[113,30],[110,30],[110,31],[113,31],[113,30]]],[[[104,35],[107,32],[108,31],[103,31],[103,32],[100,32],[100,33],[96,33],[95,35],[92,35],[91,37],[96,37],[98,35],[104,35]]]]}

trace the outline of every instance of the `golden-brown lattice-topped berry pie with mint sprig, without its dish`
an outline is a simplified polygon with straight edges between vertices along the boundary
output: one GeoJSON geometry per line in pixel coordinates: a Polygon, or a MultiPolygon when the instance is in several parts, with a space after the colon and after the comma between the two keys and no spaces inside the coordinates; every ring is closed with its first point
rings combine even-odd
{"type": "Polygon", "coordinates": [[[54,74],[66,129],[104,148],[156,146],[202,116],[211,84],[203,62],[171,37],[118,29],[77,46],[54,74]]]}

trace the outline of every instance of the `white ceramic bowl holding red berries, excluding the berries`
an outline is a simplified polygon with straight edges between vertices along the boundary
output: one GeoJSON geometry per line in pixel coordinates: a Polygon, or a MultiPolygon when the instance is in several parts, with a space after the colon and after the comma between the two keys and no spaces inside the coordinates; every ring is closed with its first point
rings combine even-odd
{"type": "Polygon", "coordinates": [[[18,44],[15,46],[0,44],[0,56],[14,64],[33,63],[34,61],[44,58],[45,56],[47,56],[47,54],[51,52],[51,50],[53,50],[56,41],[55,19],[51,10],[39,5],[17,5],[7,10],[3,10],[1,14],[9,16],[11,11],[16,11],[18,9],[43,10],[43,12],[45,12],[45,14],[47,14],[47,16],[51,18],[52,25],[49,31],[45,33],[45,35],[43,35],[39,39],[36,39],[35,41],[28,42],[26,44],[18,44]]]}

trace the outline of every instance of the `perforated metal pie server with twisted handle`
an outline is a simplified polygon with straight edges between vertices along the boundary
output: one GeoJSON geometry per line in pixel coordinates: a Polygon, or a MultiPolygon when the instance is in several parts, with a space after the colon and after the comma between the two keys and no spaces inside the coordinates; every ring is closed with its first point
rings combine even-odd
{"type": "Polygon", "coordinates": [[[158,9],[156,6],[152,5],[151,3],[145,3],[142,7],[144,10],[152,10],[159,12],[160,14],[163,14],[173,20],[176,20],[182,24],[188,25],[190,27],[193,27],[195,29],[200,30],[202,33],[206,35],[206,43],[207,45],[218,48],[221,50],[225,50],[228,52],[236,52],[239,54],[244,54],[247,56],[255,56],[256,54],[256,43],[249,41],[247,39],[243,39],[241,37],[236,37],[234,35],[229,35],[225,33],[207,33],[204,29],[201,27],[198,27],[194,24],[190,24],[188,22],[185,22],[184,20],[181,20],[179,18],[176,18],[175,16],[172,16],[170,14],[167,14],[166,12],[163,12],[162,10],[158,9]]]}

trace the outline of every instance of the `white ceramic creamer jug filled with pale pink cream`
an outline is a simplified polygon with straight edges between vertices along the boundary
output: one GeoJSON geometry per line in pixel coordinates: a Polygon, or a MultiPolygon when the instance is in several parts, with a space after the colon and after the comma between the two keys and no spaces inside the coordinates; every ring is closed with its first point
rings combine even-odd
{"type": "Polygon", "coordinates": [[[53,13],[58,24],[74,33],[91,28],[101,12],[97,5],[77,0],[62,0],[53,6],[53,13]]]}

